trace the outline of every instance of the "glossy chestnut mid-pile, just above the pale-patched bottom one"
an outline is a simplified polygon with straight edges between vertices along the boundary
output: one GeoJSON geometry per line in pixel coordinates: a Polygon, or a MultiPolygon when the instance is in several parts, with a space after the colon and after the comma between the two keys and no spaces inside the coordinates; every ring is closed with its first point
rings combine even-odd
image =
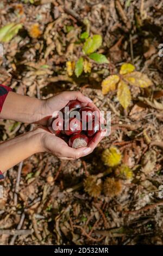
{"type": "Polygon", "coordinates": [[[69,122],[65,124],[65,134],[70,136],[73,133],[80,133],[82,131],[82,123],[77,118],[70,118],[69,122]]]}

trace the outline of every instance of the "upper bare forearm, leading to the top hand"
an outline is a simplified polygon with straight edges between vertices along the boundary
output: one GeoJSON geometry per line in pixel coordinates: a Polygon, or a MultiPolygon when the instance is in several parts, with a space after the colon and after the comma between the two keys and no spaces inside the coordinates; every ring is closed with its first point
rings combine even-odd
{"type": "Polygon", "coordinates": [[[21,121],[23,123],[37,123],[46,117],[43,101],[34,97],[9,92],[4,101],[0,118],[21,121]]]}

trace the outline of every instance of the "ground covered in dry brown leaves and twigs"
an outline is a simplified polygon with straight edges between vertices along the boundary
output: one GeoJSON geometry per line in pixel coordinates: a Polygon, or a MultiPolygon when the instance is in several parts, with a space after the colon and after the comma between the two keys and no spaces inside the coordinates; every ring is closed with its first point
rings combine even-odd
{"type": "MultiPolygon", "coordinates": [[[[0,244],[162,245],[163,57],[158,53],[163,43],[163,1],[32,2],[0,3],[0,27],[23,23],[4,44],[0,83],[39,99],[80,90],[99,109],[111,110],[111,135],[83,159],[61,161],[41,153],[8,170],[1,182],[0,244]],[[32,31],[35,23],[40,35],[32,31]],[[66,62],[80,56],[78,39],[85,27],[91,35],[102,35],[99,52],[109,64],[93,63],[90,74],[69,77],[66,62]],[[101,83],[117,74],[125,62],[148,75],[153,86],[130,87],[132,101],[124,111],[116,90],[103,95],[101,83]],[[91,197],[83,180],[108,169],[102,153],[111,146],[120,150],[133,178],[121,179],[122,191],[117,196],[91,197]]],[[[1,141],[33,128],[1,119],[1,141]]],[[[114,174],[110,171],[107,176],[114,174]]]]}

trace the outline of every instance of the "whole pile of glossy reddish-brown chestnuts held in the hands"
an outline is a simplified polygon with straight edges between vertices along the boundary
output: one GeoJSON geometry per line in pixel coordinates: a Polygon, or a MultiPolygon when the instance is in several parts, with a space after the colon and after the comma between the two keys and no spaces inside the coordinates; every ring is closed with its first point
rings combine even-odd
{"type": "Polygon", "coordinates": [[[66,107],[61,110],[61,116],[49,119],[49,131],[64,139],[72,148],[87,147],[100,130],[99,119],[95,118],[92,108],[82,107],[82,102],[78,100],[68,102],[66,107]]]}

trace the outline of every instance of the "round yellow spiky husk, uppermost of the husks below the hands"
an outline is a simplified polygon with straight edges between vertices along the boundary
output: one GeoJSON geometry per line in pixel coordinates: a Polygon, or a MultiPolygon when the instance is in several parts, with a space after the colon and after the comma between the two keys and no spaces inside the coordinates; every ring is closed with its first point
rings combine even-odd
{"type": "Polygon", "coordinates": [[[102,153],[102,161],[106,166],[117,166],[121,162],[121,158],[121,152],[116,147],[105,149],[102,153]]]}

